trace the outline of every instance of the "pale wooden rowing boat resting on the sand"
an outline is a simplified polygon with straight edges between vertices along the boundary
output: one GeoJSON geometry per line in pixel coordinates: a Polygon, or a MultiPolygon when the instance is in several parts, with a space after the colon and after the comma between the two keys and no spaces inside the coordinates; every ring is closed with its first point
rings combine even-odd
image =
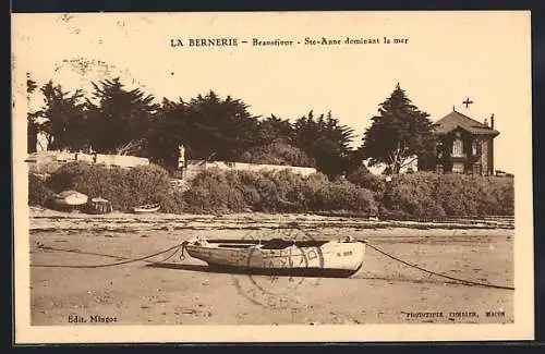
{"type": "Polygon", "coordinates": [[[214,270],[286,276],[350,277],[361,269],[365,256],[365,244],[351,237],[339,241],[196,237],[185,243],[185,249],[214,270]]]}

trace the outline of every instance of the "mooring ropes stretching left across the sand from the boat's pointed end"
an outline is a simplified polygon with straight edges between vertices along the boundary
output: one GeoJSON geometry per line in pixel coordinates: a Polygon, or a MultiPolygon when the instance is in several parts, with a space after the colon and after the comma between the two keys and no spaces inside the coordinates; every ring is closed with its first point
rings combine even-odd
{"type": "MultiPolygon", "coordinates": [[[[122,261],[116,261],[116,263],[109,263],[109,264],[99,264],[99,265],[51,265],[51,264],[47,264],[46,265],[46,264],[31,264],[31,267],[39,267],[39,268],[105,268],[105,267],[114,267],[114,266],[128,265],[128,264],[136,263],[136,261],[146,261],[146,263],[149,263],[149,264],[157,265],[157,264],[162,264],[162,263],[171,259],[179,251],[181,251],[180,260],[183,260],[184,259],[184,249],[185,249],[185,245],[186,244],[187,244],[187,242],[184,241],[184,242],[182,242],[182,243],[180,243],[180,244],[178,244],[175,246],[172,246],[172,247],[169,247],[167,249],[162,249],[162,251],[156,252],[154,254],[142,256],[142,257],[138,257],[138,258],[125,258],[125,257],[113,256],[113,255],[95,254],[95,255],[102,256],[102,257],[111,257],[111,258],[118,258],[118,259],[125,259],[125,260],[122,260],[122,261]],[[166,253],[168,253],[170,251],[173,251],[172,254],[170,254],[168,257],[166,257],[166,258],[164,258],[161,260],[157,260],[157,261],[149,261],[148,260],[149,258],[164,255],[164,254],[166,254],[166,253]]],[[[77,249],[55,248],[55,247],[43,246],[43,245],[38,246],[38,248],[40,248],[40,249],[57,251],[57,252],[73,252],[73,253],[84,254],[84,252],[81,252],[81,251],[77,251],[77,249]]]]}

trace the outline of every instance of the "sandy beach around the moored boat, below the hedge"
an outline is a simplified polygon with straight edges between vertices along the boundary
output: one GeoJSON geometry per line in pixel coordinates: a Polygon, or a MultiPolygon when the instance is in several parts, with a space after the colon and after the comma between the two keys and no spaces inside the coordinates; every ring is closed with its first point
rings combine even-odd
{"type": "Polygon", "coordinates": [[[258,213],[87,216],[33,208],[32,325],[77,325],[80,319],[87,325],[513,321],[512,290],[460,284],[410,268],[368,247],[363,268],[348,279],[217,273],[203,261],[191,257],[180,260],[179,255],[165,264],[40,267],[137,258],[195,235],[267,235],[286,221],[299,222],[315,239],[350,234],[436,272],[513,286],[513,230],[508,228],[421,228],[348,218],[258,213]]]}

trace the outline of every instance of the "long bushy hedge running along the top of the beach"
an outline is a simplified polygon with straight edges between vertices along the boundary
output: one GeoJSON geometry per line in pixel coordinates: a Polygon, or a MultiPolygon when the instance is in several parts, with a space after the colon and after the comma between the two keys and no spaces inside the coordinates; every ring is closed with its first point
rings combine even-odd
{"type": "Polygon", "coordinates": [[[75,190],[109,199],[116,210],[159,203],[161,211],[181,212],[352,212],[382,218],[512,216],[512,178],[416,172],[390,182],[367,171],[329,181],[282,171],[206,170],[189,191],[171,185],[157,166],[125,170],[82,162],[68,163],[44,182],[29,174],[31,205],[45,205],[52,193],[75,190]]]}

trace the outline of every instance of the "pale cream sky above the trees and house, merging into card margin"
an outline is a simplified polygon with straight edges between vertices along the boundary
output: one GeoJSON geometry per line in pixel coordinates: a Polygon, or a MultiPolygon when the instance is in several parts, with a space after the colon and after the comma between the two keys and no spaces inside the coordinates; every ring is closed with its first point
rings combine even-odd
{"type": "Polygon", "coordinates": [[[121,76],[159,100],[213,89],[242,99],[255,115],[331,111],[354,129],[359,146],[399,83],[433,121],[452,108],[480,122],[494,113],[496,169],[514,173],[531,161],[528,12],[14,14],[12,38],[20,93],[25,72],[69,90],[121,76]],[[307,37],[380,44],[306,46],[307,37]],[[239,46],[189,47],[190,38],[237,38],[239,46]],[[294,45],[255,47],[253,38],[294,45]],[[185,46],[171,47],[171,39],[185,46]]]}

